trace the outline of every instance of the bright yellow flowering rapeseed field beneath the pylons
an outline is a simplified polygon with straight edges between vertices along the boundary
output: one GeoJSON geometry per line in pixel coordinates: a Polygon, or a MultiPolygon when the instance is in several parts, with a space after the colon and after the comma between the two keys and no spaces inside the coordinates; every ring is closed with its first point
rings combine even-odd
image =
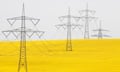
{"type": "MultiPolygon", "coordinates": [[[[120,72],[120,39],[27,41],[28,72],[120,72]]],[[[0,42],[0,72],[17,72],[19,42],[0,42]]]]}

